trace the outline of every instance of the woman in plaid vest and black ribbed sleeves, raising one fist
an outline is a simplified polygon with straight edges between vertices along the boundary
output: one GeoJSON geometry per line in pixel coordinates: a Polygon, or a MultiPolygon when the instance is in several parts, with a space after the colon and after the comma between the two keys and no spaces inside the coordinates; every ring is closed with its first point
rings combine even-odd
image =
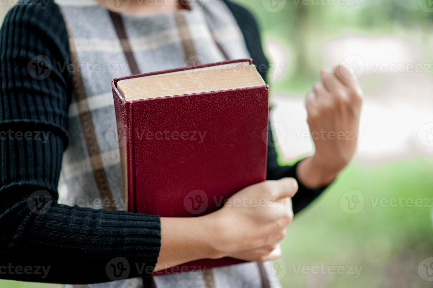
{"type": "MultiPolygon", "coordinates": [[[[19,2],[0,30],[0,266],[48,269],[0,277],[100,283],[84,287],[278,285],[259,263],[279,256],[293,214],[347,165],[355,139],[313,137],[316,153],[284,167],[270,145],[268,181],[231,197],[274,199],[269,205],[167,218],[111,204],[122,196],[119,150],[107,141],[116,123],[110,81],[249,57],[266,81],[255,20],[228,0],[19,2]],[[226,256],[251,262],[145,277],[226,256]]],[[[306,98],[310,130],[357,131],[357,81],[341,66],[321,78],[306,98]]]]}

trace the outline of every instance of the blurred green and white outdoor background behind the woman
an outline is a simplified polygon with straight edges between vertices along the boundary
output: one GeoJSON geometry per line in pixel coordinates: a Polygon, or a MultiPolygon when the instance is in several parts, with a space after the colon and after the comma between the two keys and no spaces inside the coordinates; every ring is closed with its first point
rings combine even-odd
{"type": "MultiPolygon", "coordinates": [[[[274,68],[273,119],[285,123],[281,164],[313,152],[309,139],[291,132],[307,129],[303,97],[320,68],[360,69],[365,91],[358,154],[288,227],[274,263],[282,286],[432,287],[431,0],[236,2],[256,16],[274,68]]],[[[0,18],[8,8],[0,6],[0,18]]],[[[57,286],[0,280],[0,287],[57,286]]]]}

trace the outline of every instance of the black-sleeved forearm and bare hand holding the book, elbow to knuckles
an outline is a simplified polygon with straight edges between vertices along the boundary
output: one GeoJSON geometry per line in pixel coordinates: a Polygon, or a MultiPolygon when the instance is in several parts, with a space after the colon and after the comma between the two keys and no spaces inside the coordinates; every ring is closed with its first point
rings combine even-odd
{"type": "Polygon", "coordinates": [[[57,204],[56,195],[45,190],[26,196],[35,189],[1,192],[0,266],[42,267],[44,272],[1,278],[86,284],[116,280],[109,265],[119,263],[118,257],[129,265],[121,278],[204,258],[269,259],[293,219],[290,197],[297,184],[291,178],[258,183],[227,202],[258,204],[226,205],[202,217],[162,217],[161,224],[154,215],[57,204]]]}

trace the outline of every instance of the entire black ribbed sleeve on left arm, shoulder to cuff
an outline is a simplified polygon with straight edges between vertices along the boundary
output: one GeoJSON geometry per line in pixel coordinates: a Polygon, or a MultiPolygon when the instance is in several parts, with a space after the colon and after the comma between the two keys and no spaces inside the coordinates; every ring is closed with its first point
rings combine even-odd
{"type": "Polygon", "coordinates": [[[57,203],[69,59],[53,1],[22,1],[9,11],[0,29],[0,278],[85,284],[151,274],[158,216],[57,203]]]}

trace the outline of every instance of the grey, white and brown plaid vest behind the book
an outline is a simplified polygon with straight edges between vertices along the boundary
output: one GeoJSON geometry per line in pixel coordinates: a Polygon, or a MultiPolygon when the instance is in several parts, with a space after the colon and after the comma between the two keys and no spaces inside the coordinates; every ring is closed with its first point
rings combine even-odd
{"type": "MultiPolygon", "coordinates": [[[[126,202],[122,198],[110,81],[130,74],[248,58],[251,57],[248,45],[223,0],[191,0],[190,10],[145,16],[113,13],[94,0],[57,0],[56,3],[68,29],[71,63],[67,68],[71,68],[74,84],[69,107],[69,146],[62,161],[59,201],[95,209],[123,210],[126,202]]],[[[74,285],[148,286],[254,288],[279,287],[279,283],[272,278],[269,265],[250,262],[154,278],[74,285]]]]}

